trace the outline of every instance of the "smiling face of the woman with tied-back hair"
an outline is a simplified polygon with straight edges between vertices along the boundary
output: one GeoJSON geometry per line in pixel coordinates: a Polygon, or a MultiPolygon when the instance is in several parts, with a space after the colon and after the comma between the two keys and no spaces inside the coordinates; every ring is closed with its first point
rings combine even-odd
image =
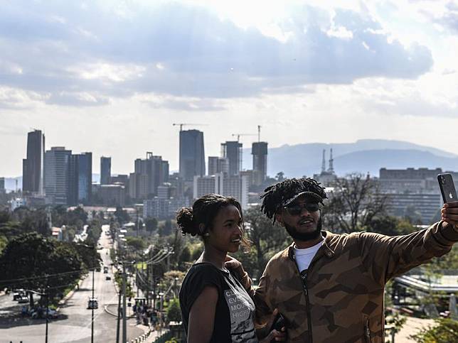
{"type": "Polygon", "coordinates": [[[214,249],[235,253],[243,235],[243,222],[240,212],[234,205],[223,207],[213,219],[213,227],[208,231],[206,241],[214,249]]]}

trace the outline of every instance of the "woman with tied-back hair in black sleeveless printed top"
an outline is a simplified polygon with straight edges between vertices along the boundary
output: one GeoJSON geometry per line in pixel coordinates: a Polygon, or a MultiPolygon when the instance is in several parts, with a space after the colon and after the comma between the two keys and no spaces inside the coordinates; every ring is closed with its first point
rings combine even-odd
{"type": "MultiPolygon", "coordinates": [[[[240,203],[233,197],[204,195],[192,208],[180,209],[176,222],[183,234],[201,236],[204,244],[180,290],[188,343],[259,342],[253,322],[255,304],[224,266],[228,252],[235,253],[240,244],[246,244],[240,203]]],[[[284,340],[284,333],[272,330],[261,342],[272,339],[284,340]]]]}

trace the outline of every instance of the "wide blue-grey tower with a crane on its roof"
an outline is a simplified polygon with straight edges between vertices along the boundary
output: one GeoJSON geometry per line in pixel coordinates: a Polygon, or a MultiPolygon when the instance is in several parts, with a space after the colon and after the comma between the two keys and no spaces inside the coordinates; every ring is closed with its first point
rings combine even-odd
{"type": "Polygon", "coordinates": [[[194,175],[205,175],[205,151],[203,132],[198,130],[180,131],[180,176],[186,181],[194,175]]]}

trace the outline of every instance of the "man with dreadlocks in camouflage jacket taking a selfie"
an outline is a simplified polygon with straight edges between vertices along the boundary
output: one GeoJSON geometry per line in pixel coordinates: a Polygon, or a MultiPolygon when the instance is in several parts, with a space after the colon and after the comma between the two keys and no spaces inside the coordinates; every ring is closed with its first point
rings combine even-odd
{"type": "Polygon", "coordinates": [[[252,296],[260,324],[279,309],[287,342],[385,342],[385,283],[458,241],[458,202],[445,204],[429,229],[390,237],[321,231],[326,193],[311,178],[284,180],[261,198],[262,212],[294,242],[270,259],[252,296]]]}

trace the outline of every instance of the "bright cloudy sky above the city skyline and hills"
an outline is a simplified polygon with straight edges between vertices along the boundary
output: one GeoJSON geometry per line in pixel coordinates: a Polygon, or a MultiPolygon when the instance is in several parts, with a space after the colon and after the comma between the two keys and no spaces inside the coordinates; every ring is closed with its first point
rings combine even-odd
{"type": "MultiPolygon", "coordinates": [[[[0,176],[26,136],[179,165],[179,126],[206,156],[240,136],[270,148],[410,141],[458,154],[458,1],[33,1],[0,11],[0,176]]],[[[301,158],[301,156],[298,156],[301,158]]]]}

